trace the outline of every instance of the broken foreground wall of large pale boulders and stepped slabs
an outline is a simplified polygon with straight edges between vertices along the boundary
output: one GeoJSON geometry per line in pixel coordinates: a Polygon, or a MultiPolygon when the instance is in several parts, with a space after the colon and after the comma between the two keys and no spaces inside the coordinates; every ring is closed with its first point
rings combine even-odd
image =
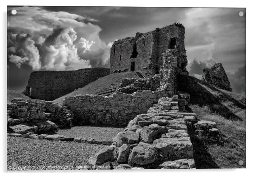
{"type": "Polygon", "coordinates": [[[111,146],[88,159],[88,167],[115,164],[122,169],[195,168],[187,125],[197,122],[196,114],[177,112],[176,106],[182,104],[176,97],[163,97],[147,113],[137,115],[111,146]]]}

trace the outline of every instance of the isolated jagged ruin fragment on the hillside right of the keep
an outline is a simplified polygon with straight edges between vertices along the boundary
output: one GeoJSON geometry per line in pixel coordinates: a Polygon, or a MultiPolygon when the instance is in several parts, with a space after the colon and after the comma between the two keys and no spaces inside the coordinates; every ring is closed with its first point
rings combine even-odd
{"type": "Polygon", "coordinates": [[[208,82],[210,85],[232,92],[227,74],[222,63],[215,63],[209,69],[203,69],[202,81],[208,82]]]}

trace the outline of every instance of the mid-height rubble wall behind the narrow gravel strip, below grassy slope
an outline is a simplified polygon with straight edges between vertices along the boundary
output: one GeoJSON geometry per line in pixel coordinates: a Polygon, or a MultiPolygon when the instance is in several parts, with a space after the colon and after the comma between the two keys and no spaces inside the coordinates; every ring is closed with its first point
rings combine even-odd
{"type": "Polygon", "coordinates": [[[66,97],[63,104],[73,113],[75,125],[123,126],[137,114],[146,113],[161,97],[157,91],[114,93],[111,96],[77,95],[66,97]]]}

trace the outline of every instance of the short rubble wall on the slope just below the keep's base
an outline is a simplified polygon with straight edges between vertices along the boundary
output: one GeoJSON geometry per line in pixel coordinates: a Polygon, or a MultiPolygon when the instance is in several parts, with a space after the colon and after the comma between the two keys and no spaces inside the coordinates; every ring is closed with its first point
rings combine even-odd
{"type": "Polygon", "coordinates": [[[156,91],[159,86],[159,75],[154,75],[148,79],[125,78],[117,91],[121,93],[134,93],[142,90],[156,91]]]}

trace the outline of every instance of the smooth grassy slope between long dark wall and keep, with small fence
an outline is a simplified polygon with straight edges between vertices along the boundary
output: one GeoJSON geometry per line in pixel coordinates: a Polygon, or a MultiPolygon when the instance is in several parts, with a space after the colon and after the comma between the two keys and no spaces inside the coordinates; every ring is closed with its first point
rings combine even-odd
{"type": "MultiPolygon", "coordinates": [[[[142,72],[140,72],[143,74],[142,72]]],[[[145,74],[143,74],[146,77],[145,74]]],[[[64,96],[61,96],[58,99],[55,99],[54,102],[62,103],[63,99],[67,96],[76,96],[76,95],[85,95],[85,94],[96,94],[99,91],[104,91],[106,89],[117,88],[122,82],[123,78],[139,78],[135,72],[124,72],[124,73],[115,73],[109,74],[105,77],[100,77],[98,80],[91,82],[88,85],[85,85],[82,88],[68,93],[64,96]]]]}

